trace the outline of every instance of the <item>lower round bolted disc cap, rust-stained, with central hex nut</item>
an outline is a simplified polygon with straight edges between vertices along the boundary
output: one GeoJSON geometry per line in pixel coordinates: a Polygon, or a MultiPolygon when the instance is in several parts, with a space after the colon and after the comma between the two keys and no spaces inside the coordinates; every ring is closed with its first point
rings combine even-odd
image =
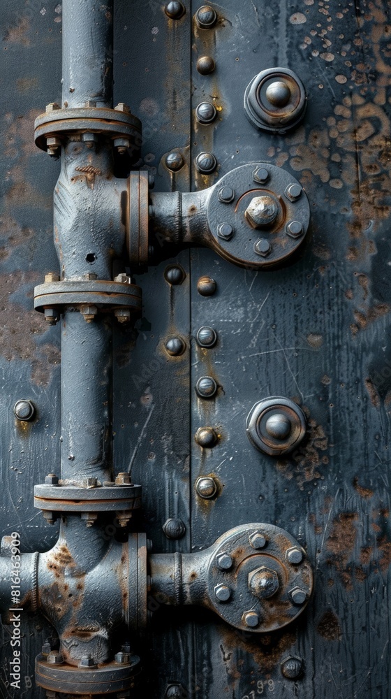
{"type": "Polygon", "coordinates": [[[223,534],[207,569],[209,605],[231,626],[270,633],[305,609],[313,588],[300,544],[272,524],[244,524],[223,534]]]}

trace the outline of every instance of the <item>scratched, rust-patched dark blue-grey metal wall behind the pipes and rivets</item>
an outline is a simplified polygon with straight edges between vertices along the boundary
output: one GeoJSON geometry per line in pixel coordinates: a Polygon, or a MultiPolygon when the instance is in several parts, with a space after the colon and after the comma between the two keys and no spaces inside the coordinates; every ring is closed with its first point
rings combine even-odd
{"type": "MultiPolygon", "coordinates": [[[[154,551],[198,550],[237,524],[267,521],[307,548],[316,591],[298,624],[255,641],[207,612],[152,610],[151,631],[135,647],[146,668],[140,696],[161,699],[168,682],[182,682],[198,699],[386,699],[390,7],[227,0],[216,5],[217,26],[198,31],[191,16],[200,5],[186,3],[169,29],[161,2],[117,3],[115,96],[142,119],[140,165],[156,173],[156,191],[212,184],[214,176],[193,168],[201,150],[216,154],[219,175],[249,161],[283,166],[307,191],[311,230],[295,264],[267,273],[182,251],[186,280],[171,291],[163,272],[175,258],[157,251],[162,261],[138,275],[145,311],[137,332],[121,330],[115,340],[115,468],[131,464],[142,483],[136,525],[154,551]],[[208,77],[195,70],[205,53],[216,60],[208,77]],[[255,131],[242,108],[253,75],[276,65],[296,71],[309,95],[303,125],[284,137],[255,131]],[[204,98],[221,108],[219,118],[191,129],[191,103],[204,98]],[[175,176],[163,164],[173,147],[187,162],[175,176]],[[209,298],[196,291],[205,274],[218,284],[209,298]],[[205,324],[219,341],[202,352],[193,336],[205,324]],[[168,360],[162,344],[174,331],[188,348],[168,360]],[[194,391],[205,373],[221,386],[207,405],[194,391]],[[273,394],[295,398],[309,415],[309,438],[293,459],[262,456],[244,432],[253,403],[273,394]],[[193,442],[202,424],[222,435],[209,454],[193,442]],[[206,504],[193,490],[205,473],[222,486],[206,504]],[[161,531],[172,514],[186,524],[179,542],[161,531]],[[296,683],[281,675],[290,654],[305,665],[296,683]]],[[[24,550],[43,551],[57,530],[34,510],[32,491],[59,463],[59,329],[34,314],[32,291],[57,269],[59,166],[36,149],[32,127],[43,106],[60,99],[61,6],[3,0],[1,26],[0,528],[17,528],[24,550]],[[38,408],[25,431],[13,419],[17,398],[38,408]]],[[[41,696],[32,686],[34,656],[50,629],[38,615],[25,619],[23,696],[31,699],[41,696]]],[[[1,693],[13,698],[20,692],[5,684],[8,627],[1,633],[1,693]]]]}

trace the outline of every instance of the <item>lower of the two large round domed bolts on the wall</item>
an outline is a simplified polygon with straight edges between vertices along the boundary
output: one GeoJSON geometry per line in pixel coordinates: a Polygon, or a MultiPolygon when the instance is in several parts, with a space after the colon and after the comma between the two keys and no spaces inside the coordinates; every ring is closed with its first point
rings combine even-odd
{"type": "Polygon", "coordinates": [[[307,430],[302,409],[288,398],[265,398],[251,408],[246,433],[254,447],[270,454],[288,454],[300,445],[307,430]]]}

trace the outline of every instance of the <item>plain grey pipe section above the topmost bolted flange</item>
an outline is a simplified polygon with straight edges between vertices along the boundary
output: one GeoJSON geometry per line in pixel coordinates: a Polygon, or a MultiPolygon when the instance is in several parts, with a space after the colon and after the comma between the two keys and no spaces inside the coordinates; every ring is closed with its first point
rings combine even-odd
{"type": "Polygon", "coordinates": [[[112,107],[112,13],[113,0],[64,0],[64,107],[112,107]]]}

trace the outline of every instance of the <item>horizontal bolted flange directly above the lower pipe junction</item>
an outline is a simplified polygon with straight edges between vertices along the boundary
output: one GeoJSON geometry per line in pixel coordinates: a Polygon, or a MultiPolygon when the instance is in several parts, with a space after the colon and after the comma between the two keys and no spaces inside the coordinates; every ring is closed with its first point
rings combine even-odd
{"type": "Polygon", "coordinates": [[[34,507],[52,512],[123,512],[139,510],[141,486],[80,488],[45,483],[34,486],[34,507]]]}

